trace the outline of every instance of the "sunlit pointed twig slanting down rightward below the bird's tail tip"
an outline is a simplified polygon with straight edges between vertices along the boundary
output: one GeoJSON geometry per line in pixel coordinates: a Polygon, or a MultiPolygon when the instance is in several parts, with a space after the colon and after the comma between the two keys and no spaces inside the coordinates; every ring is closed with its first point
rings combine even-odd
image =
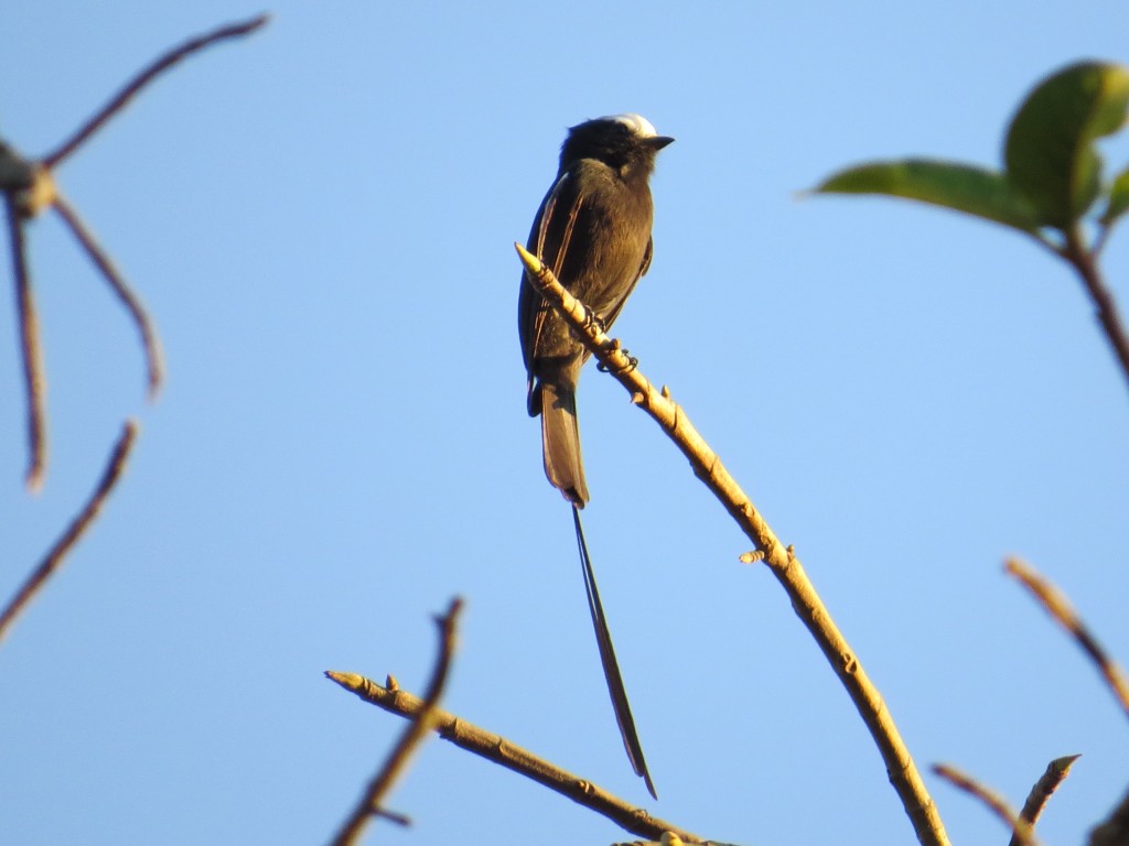
{"type": "MultiPolygon", "coordinates": [[[[415,719],[423,702],[405,690],[401,690],[390,677],[382,687],[364,676],[329,670],[325,677],[338,682],[361,699],[391,714],[415,719]]],[[[554,764],[539,758],[527,749],[511,743],[500,734],[480,729],[454,714],[436,710],[432,714],[434,729],[444,740],[449,740],[460,749],[465,749],[489,761],[532,778],[574,802],[599,813],[639,837],[657,840],[665,831],[673,831],[688,843],[702,843],[702,838],[665,820],[651,817],[641,808],[629,804],[612,795],[603,787],[572,775],[554,764]]]]}

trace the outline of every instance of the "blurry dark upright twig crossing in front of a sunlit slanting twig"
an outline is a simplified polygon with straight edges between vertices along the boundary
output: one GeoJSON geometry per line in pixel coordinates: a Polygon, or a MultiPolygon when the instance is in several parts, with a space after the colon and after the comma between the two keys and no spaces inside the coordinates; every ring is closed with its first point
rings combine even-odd
{"type": "Polygon", "coordinates": [[[380,804],[396,778],[404,770],[409,758],[419,748],[420,743],[430,732],[435,720],[435,706],[443,696],[443,689],[447,684],[447,676],[450,671],[450,660],[455,652],[455,624],[458,611],[463,607],[463,600],[457,597],[450,600],[447,613],[436,619],[439,626],[439,651],[431,671],[431,680],[428,682],[427,694],[423,702],[412,720],[411,724],[400,735],[396,746],[393,747],[384,765],[374,776],[368,785],[365,795],[353,808],[352,813],[341,827],[338,836],[333,838],[334,846],[349,846],[357,841],[365,826],[376,814],[380,814],[380,804]]]}

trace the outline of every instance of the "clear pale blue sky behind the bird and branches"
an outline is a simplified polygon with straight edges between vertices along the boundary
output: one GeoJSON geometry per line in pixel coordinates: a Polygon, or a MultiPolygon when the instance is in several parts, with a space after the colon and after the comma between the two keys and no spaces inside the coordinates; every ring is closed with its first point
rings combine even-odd
{"type": "MultiPolygon", "coordinates": [[[[0,135],[52,149],[220,2],[9,3],[0,135]]],[[[516,333],[523,239],[564,129],[639,112],[677,142],[655,262],[615,326],[797,552],[919,767],[1013,802],[1082,752],[1040,828],[1126,788],[1092,667],[1001,574],[1018,554],[1129,662],[1126,384],[1068,268],[944,211],[797,192],[904,155],[998,164],[1019,99],[1127,61],[1118,3],[297,3],[148,90],[58,177],[141,294],[168,381],[51,218],[32,266],[51,465],[21,485],[0,308],[0,587],[129,473],[0,644],[0,840],[317,843],[402,728],[322,678],[422,687],[656,814],[745,844],[910,843],[846,694],[749,541],[589,367],[586,527],[658,787],[630,772],[516,333]]],[[[1123,165],[1129,142],[1108,158],[1123,165]]],[[[1104,256],[1129,300],[1129,238],[1104,256]]],[[[5,262],[0,272],[10,284],[5,262]]],[[[10,302],[10,297],[9,297],[10,302]]],[[[999,823],[926,776],[954,843],[999,823]]],[[[383,841],[630,839],[430,742],[383,841]]],[[[1001,841],[1001,840],[1000,840],[1001,841]]]]}

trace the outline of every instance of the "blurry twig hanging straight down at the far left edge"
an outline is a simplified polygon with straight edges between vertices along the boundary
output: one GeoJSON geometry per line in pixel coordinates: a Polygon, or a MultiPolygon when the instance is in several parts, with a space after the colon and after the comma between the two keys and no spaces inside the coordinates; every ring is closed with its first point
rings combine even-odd
{"type": "Polygon", "coordinates": [[[47,466],[45,424],[46,380],[43,378],[43,353],[40,346],[40,321],[35,315],[32,276],[27,271],[27,247],[24,244],[24,221],[14,194],[5,194],[8,238],[11,241],[12,275],[16,277],[16,315],[19,320],[19,350],[24,371],[24,394],[27,397],[27,474],[28,488],[38,491],[47,466]]]}

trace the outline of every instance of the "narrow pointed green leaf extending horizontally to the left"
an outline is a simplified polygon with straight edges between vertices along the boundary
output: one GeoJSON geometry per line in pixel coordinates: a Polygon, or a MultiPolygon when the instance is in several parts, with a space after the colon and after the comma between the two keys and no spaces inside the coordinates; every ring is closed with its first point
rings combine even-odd
{"type": "Polygon", "coordinates": [[[840,170],[815,191],[886,194],[974,214],[1035,233],[1039,217],[1007,178],[994,170],[933,159],[876,161],[840,170]]]}

